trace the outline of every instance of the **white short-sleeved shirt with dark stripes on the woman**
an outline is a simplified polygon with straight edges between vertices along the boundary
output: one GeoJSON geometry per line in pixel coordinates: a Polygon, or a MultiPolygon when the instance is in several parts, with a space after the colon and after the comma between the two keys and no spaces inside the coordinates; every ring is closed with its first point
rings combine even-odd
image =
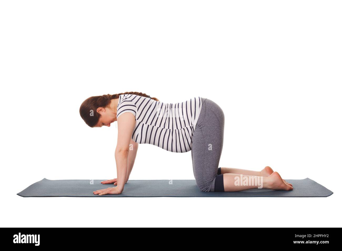
{"type": "Polygon", "coordinates": [[[135,142],[183,153],[192,149],[192,136],[201,108],[201,97],[181,103],[164,103],[134,94],[122,94],[119,96],[117,118],[125,112],[135,116],[132,134],[135,142]]]}

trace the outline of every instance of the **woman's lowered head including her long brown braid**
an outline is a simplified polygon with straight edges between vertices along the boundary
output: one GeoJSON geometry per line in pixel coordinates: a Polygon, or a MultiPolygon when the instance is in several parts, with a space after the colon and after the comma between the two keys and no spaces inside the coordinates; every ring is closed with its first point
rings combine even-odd
{"type": "MultiPolygon", "coordinates": [[[[116,106],[119,95],[134,94],[142,97],[149,97],[145,93],[125,92],[118,94],[104,94],[102,96],[92,96],[84,100],[80,106],[81,118],[90,127],[110,126],[110,123],[116,121],[116,106]]],[[[159,101],[157,98],[151,98],[159,101]]]]}

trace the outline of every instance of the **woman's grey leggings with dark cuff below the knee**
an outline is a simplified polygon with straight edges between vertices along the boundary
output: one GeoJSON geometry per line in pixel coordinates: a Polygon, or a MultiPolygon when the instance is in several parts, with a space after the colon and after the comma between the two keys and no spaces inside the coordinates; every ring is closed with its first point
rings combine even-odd
{"type": "Polygon", "coordinates": [[[198,188],[203,192],[224,192],[223,174],[218,168],[223,147],[224,113],[214,101],[202,98],[202,108],[193,135],[191,157],[198,188]]]}

